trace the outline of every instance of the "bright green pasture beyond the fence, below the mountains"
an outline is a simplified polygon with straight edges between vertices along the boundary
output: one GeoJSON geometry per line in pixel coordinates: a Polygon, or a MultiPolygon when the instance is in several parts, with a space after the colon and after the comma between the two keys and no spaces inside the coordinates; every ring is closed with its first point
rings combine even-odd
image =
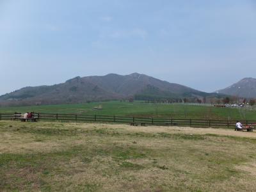
{"type": "Polygon", "coordinates": [[[168,118],[203,118],[216,120],[256,120],[256,111],[243,111],[236,108],[214,108],[209,106],[189,106],[184,104],[148,104],[144,102],[94,102],[88,104],[62,104],[49,106],[29,106],[0,108],[0,113],[77,113],[87,115],[147,116],[168,118]],[[102,106],[102,110],[93,109],[102,106]]]}

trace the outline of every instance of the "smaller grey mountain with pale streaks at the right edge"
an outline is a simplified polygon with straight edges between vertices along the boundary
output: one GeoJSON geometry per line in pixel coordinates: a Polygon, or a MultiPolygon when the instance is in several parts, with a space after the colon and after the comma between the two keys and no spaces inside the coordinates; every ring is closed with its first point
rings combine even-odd
{"type": "Polygon", "coordinates": [[[256,79],[244,78],[223,90],[218,90],[217,93],[234,95],[237,97],[256,98],[256,79]]]}

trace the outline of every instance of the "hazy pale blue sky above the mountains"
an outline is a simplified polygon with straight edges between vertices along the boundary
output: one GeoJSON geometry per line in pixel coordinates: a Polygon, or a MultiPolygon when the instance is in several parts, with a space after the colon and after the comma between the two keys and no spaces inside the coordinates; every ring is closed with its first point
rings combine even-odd
{"type": "Polygon", "coordinates": [[[0,0],[0,95],[133,72],[214,92],[255,52],[256,0],[0,0]]]}

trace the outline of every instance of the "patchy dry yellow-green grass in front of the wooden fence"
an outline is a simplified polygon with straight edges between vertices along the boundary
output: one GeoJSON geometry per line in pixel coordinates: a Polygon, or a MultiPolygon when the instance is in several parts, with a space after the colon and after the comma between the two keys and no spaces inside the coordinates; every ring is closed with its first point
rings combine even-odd
{"type": "Polygon", "coordinates": [[[0,191],[254,191],[256,133],[0,122],[0,191]]]}

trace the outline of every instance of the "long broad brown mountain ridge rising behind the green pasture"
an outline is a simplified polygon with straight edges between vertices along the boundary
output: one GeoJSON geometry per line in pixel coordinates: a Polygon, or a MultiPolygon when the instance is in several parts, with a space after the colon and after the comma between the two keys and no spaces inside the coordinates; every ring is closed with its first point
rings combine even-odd
{"type": "Polygon", "coordinates": [[[128,99],[141,100],[182,99],[195,100],[216,95],[187,86],[161,81],[143,74],[120,76],[75,77],[52,86],[25,87],[0,96],[1,105],[64,104],[88,101],[128,99]]]}

